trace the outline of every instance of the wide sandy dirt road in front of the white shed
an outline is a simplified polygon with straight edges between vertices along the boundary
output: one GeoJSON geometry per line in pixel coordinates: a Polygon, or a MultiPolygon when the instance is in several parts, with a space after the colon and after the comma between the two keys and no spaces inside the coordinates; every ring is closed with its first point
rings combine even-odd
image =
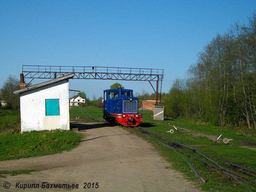
{"type": "MultiPolygon", "coordinates": [[[[41,171],[0,178],[0,191],[199,191],[179,172],[169,168],[172,165],[140,137],[106,124],[88,123],[80,130],[85,135],[84,140],[72,151],[1,161],[1,171],[41,171]],[[10,183],[9,189],[3,187],[5,182],[10,183]],[[84,188],[85,182],[87,188],[84,188]],[[50,188],[54,184],[74,184],[78,188],[66,189],[65,185],[65,189],[50,188]]],[[[5,183],[5,187],[8,185],[5,183]]]]}

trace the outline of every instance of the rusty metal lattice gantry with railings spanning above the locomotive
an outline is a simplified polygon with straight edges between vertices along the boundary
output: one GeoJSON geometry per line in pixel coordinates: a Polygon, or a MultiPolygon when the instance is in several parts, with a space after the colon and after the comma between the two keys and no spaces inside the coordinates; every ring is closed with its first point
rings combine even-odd
{"type": "Polygon", "coordinates": [[[53,79],[74,73],[73,79],[148,81],[153,89],[154,87],[151,82],[156,81],[156,90],[154,89],[156,104],[161,103],[164,69],[23,65],[22,73],[24,78],[32,78],[32,80],[35,78],[53,79]],[[157,101],[160,102],[158,103],[157,101]]]}

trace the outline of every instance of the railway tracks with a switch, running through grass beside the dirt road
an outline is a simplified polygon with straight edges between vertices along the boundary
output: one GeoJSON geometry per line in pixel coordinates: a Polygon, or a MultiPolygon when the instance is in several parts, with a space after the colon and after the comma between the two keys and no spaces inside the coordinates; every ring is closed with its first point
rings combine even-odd
{"type": "MultiPolygon", "coordinates": [[[[90,116],[89,113],[87,113],[87,114],[90,116]]],[[[84,119],[106,123],[105,121],[95,119],[92,116],[86,117],[85,114],[84,114],[84,119]]],[[[204,165],[208,166],[209,168],[216,170],[217,172],[222,174],[227,180],[233,180],[236,183],[236,185],[244,185],[244,183],[246,183],[246,184],[249,184],[251,186],[256,187],[255,183],[253,183],[253,182],[251,182],[247,179],[248,177],[253,177],[254,178],[253,180],[255,180],[256,171],[254,171],[252,169],[249,169],[249,168],[246,168],[244,166],[235,164],[233,162],[230,162],[230,161],[225,160],[223,158],[214,156],[214,155],[209,154],[207,152],[204,152],[202,150],[184,145],[180,142],[177,142],[177,141],[172,140],[170,138],[164,137],[164,136],[162,136],[160,134],[157,134],[155,132],[151,132],[151,131],[149,131],[149,130],[143,128],[143,127],[140,127],[140,126],[137,126],[137,127],[134,127],[134,128],[133,127],[128,127],[128,128],[131,129],[133,132],[137,132],[141,135],[144,135],[145,137],[147,137],[149,139],[157,141],[158,143],[164,145],[167,148],[172,149],[177,154],[182,156],[183,159],[188,164],[188,166],[191,167],[191,169],[195,172],[198,179],[203,184],[205,184],[207,182],[207,180],[197,170],[196,166],[193,163],[189,163],[188,157],[196,159],[197,161],[199,161],[199,162],[203,163],[204,165]],[[188,153],[188,152],[185,152],[182,149],[188,149],[188,151],[190,151],[192,154],[188,153]],[[195,154],[198,154],[198,155],[195,156],[195,154]],[[226,167],[229,167],[232,170],[228,170],[227,168],[224,168],[223,165],[221,166],[220,163],[217,163],[215,160],[218,160],[219,162],[222,162],[224,165],[226,165],[226,167]]],[[[252,190],[249,187],[247,187],[246,185],[244,185],[244,187],[247,188],[248,191],[252,192],[252,190]]]]}

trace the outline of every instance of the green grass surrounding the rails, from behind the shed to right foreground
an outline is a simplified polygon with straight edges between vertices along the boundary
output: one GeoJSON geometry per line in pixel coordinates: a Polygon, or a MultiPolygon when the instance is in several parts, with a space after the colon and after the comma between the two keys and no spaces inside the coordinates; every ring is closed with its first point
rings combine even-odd
{"type": "MultiPolygon", "coordinates": [[[[102,118],[101,108],[90,107],[81,109],[81,107],[77,107],[70,110],[70,115],[72,115],[71,111],[73,110],[74,112],[76,111],[75,113],[77,115],[82,116],[83,112],[81,110],[83,110],[89,113],[94,118],[102,118]]],[[[234,130],[229,130],[227,127],[191,124],[189,122],[189,119],[185,118],[168,119],[166,117],[163,121],[153,120],[153,111],[145,110],[143,111],[143,123],[141,123],[140,126],[148,129],[149,131],[156,132],[185,145],[192,146],[193,148],[197,148],[220,158],[227,159],[233,163],[242,165],[253,170],[256,169],[256,151],[247,148],[241,148],[243,146],[255,148],[255,138],[239,135],[234,130]],[[172,125],[177,127],[182,134],[178,134],[176,131],[172,134],[170,132],[166,132],[170,131],[170,129],[174,129],[172,125]],[[228,138],[233,140],[229,141],[228,144],[224,144],[222,141],[218,141],[217,145],[213,145],[214,140],[209,138],[217,139],[220,134],[223,134],[221,136],[221,139],[228,138]]],[[[130,131],[129,128],[123,128],[127,131],[130,131]]],[[[174,169],[183,172],[188,180],[194,181],[194,183],[201,189],[205,191],[247,191],[247,189],[245,188],[246,184],[241,186],[237,185],[232,180],[226,180],[226,178],[222,176],[219,172],[216,172],[215,170],[210,170],[198,160],[192,159],[180,153],[178,154],[172,149],[166,148],[158,142],[150,140],[145,136],[138,136],[142,137],[145,140],[148,140],[148,142],[151,142],[161,152],[162,156],[164,156],[167,161],[172,163],[172,167],[174,169]],[[190,164],[195,164],[199,172],[204,175],[204,177],[207,179],[205,185],[199,182],[195,173],[188,166],[184,158],[186,158],[190,164]]],[[[191,154],[191,152],[187,149],[182,150],[191,154]]],[[[192,153],[192,155],[200,158],[200,156],[196,153],[192,153]]],[[[222,167],[227,168],[228,170],[231,169],[219,160],[213,160],[220,164],[222,167]]],[[[233,172],[238,172],[239,174],[242,174],[240,173],[240,170],[233,170],[233,172]]],[[[255,176],[248,176],[246,174],[244,174],[244,176],[247,180],[256,183],[255,176]]],[[[252,191],[256,191],[255,187],[248,185],[246,186],[249,187],[252,191]]]]}

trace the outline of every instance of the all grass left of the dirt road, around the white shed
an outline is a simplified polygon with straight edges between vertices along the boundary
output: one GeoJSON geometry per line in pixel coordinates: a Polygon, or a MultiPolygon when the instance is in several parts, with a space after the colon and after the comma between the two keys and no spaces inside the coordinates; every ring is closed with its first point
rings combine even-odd
{"type": "MultiPolygon", "coordinates": [[[[78,146],[83,137],[71,130],[32,131],[11,135],[10,132],[15,129],[20,129],[20,111],[0,108],[0,161],[68,151],[78,146]]],[[[5,178],[6,175],[28,174],[32,171],[37,170],[0,171],[0,178],[5,178]]]]}

